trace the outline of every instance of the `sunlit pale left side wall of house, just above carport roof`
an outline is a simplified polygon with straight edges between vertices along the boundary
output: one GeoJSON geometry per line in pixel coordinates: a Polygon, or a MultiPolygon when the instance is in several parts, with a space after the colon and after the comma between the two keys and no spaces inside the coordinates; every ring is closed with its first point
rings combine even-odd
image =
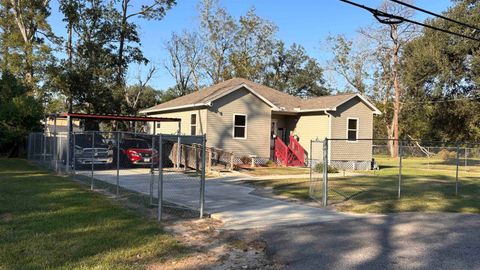
{"type": "MultiPolygon", "coordinates": [[[[174,111],[167,113],[152,114],[152,117],[180,118],[180,133],[183,135],[192,135],[190,129],[191,115],[197,115],[196,135],[202,135],[207,132],[207,109],[195,109],[187,111],[174,111]]],[[[153,133],[153,123],[149,123],[149,130],[153,133]]],[[[161,122],[160,127],[155,129],[156,134],[177,134],[178,122],[161,122]]]]}

